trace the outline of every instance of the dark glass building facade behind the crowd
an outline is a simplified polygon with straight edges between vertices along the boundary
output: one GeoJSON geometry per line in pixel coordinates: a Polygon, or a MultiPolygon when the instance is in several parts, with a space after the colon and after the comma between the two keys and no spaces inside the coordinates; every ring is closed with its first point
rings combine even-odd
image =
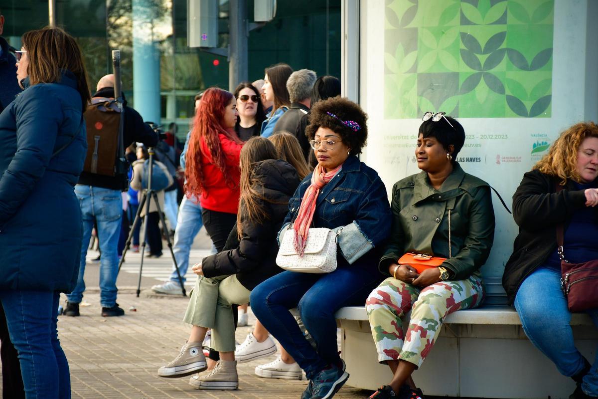
{"type": "MultiPolygon", "coordinates": [[[[264,68],[277,62],[340,78],[340,0],[277,3],[276,17],[249,32],[249,80],[263,78],[264,68]]],[[[247,8],[252,22],[252,0],[247,8]]],[[[228,12],[228,0],[220,0],[219,47],[228,45],[228,12]]],[[[2,36],[13,47],[20,47],[26,31],[48,25],[47,0],[0,0],[0,13],[6,20],[2,36]]],[[[120,49],[129,105],[146,120],[175,122],[181,138],[195,94],[228,88],[227,57],[187,45],[187,0],[56,0],[55,16],[56,25],[81,45],[90,87],[112,72],[111,50],[120,49]]]]}

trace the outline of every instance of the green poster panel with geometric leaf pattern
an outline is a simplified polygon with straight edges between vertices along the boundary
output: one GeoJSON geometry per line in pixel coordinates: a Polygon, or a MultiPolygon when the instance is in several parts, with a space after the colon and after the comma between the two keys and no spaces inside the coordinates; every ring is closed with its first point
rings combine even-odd
{"type": "Polygon", "coordinates": [[[385,118],[550,117],[554,0],[386,0],[385,118]]]}

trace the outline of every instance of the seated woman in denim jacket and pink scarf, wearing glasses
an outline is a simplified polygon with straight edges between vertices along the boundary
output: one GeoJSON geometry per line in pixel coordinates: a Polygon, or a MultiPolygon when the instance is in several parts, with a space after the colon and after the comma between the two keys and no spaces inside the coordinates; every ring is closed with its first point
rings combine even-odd
{"type": "Polygon", "coordinates": [[[301,398],[331,398],[349,377],[338,355],[334,314],[362,304],[382,276],[376,247],[390,232],[386,188],[375,170],[359,162],[367,139],[367,115],[359,105],[335,97],[312,108],[307,127],[318,159],[289,201],[279,242],[294,234],[304,248],[310,227],[337,232],[337,269],[312,274],[285,271],[258,285],[251,307],[260,322],[306,372],[301,398]],[[317,349],[301,333],[289,309],[297,307],[317,349]]]}

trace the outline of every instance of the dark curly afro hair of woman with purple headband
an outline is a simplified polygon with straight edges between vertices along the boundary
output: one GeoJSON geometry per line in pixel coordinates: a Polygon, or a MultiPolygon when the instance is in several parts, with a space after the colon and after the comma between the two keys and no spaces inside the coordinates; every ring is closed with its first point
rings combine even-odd
{"type": "Polygon", "coordinates": [[[351,155],[356,155],[361,153],[368,138],[367,120],[368,115],[358,104],[340,96],[332,97],[319,101],[313,106],[305,133],[310,140],[313,140],[319,127],[326,127],[340,135],[344,144],[351,149],[351,155]],[[336,115],[336,117],[329,115],[327,112],[336,115]],[[355,131],[345,126],[342,121],[356,122],[361,129],[355,131]]]}

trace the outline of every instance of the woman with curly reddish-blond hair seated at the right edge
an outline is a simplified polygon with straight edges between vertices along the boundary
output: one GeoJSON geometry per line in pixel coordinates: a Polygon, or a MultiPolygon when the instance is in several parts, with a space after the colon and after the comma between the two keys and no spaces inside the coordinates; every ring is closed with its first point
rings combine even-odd
{"type": "MultiPolygon", "coordinates": [[[[598,259],[598,126],[577,123],[561,133],[548,154],[523,175],[513,195],[519,225],[502,276],[523,330],[564,376],[577,383],[571,398],[598,397],[594,365],[573,342],[571,313],[561,290],[557,227],[571,263],[598,259]]],[[[598,327],[598,308],[588,311],[598,327]]],[[[598,354],[598,352],[597,352],[598,354]]]]}

